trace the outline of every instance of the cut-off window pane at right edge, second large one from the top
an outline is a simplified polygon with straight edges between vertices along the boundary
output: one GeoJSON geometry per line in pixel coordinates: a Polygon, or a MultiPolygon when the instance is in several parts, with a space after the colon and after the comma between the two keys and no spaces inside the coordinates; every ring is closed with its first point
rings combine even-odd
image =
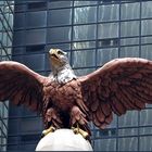
{"type": "Polygon", "coordinates": [[[152,35],[152,20],[141,21],[141,35],[152,35]]]}

